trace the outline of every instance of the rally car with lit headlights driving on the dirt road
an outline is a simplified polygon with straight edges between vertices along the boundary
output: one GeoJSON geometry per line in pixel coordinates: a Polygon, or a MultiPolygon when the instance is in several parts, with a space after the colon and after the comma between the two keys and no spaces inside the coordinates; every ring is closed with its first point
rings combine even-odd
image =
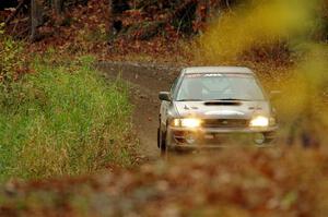
{"type": "Polygon", "coordinates": [[[278,130],[270,97],[248,68],[186,68],[159,98],[162,153],[216,148],[236,141],[265,145],[278,130]]]}

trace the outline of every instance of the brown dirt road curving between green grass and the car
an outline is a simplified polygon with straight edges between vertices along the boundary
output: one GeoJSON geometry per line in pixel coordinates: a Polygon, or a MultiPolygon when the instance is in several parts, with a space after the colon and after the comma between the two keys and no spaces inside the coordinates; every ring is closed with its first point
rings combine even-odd
{"type": "Polygon", "coordinates": [[[160,152],[156,146],[159,125],[160,91],[168,91],[179,68],[127,62],[103,62],[97,68],[107,79],[120,76],[131,89],[134,105],[133,124],[140,140],[140,153],[149,159],[156,159],[160,152]]]}

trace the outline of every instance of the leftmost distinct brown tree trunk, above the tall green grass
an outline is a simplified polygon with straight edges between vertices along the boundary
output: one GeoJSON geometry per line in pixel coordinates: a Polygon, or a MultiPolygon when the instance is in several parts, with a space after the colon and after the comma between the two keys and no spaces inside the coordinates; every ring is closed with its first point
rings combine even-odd
{"type": "Polygon", "coordinates": [[[32,41],[39,38],[38,26],[43,24],[43,3],[40,0],[31,0],[31,36],[32,41]]]}

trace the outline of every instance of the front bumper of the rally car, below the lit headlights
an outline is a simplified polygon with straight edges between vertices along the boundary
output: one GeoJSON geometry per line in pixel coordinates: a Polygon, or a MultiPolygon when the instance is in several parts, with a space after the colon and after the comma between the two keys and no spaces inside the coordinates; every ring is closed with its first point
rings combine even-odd
{"type": "MultiPolygon", "coordinates": [[[[188,129],[168,126],[166,132],[166,145],[171,150],[221,148],[236,145],[254,145],[255,136],[262,135],[267,140],[273,140],[278,126],[245,128],[245,129],[188,129]]],[[[265,145],[269,146],[269,145],[265,145]]]]}

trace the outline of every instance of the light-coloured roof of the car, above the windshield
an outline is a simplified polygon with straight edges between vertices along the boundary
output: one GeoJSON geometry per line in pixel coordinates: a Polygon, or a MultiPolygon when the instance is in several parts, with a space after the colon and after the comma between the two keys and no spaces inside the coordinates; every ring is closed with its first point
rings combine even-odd
{"type": "Polygon", "coordinates": [[[254,74],[254,72],[245,67],[191,67],[183,70],[186,74],[192,73],[242,73],[254,74]]]}

